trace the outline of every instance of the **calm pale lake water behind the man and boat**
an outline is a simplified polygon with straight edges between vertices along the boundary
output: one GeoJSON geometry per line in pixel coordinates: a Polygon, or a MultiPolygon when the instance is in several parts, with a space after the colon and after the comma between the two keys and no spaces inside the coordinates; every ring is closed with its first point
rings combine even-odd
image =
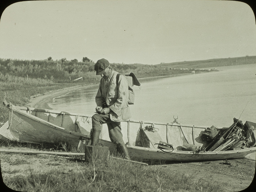
{"type": "MultiPolygon", "coordinates": [[[[161,78],[141,83],[131,105],[133,120],[221,128],[233,118],[256,122],[256,65],[216,67],[218,72],[161,78]]],[[[54,98],[54,110],[93,115],[98,85],[54,98]]]]}

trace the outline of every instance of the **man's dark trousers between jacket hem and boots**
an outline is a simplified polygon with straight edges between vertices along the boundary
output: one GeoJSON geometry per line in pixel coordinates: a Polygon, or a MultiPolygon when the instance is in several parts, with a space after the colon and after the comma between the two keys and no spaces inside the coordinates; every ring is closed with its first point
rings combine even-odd
{"type": "Polygon", "coordinates": [[[124,145],[123,134],[121,132],[121,122],[112,121],[109,114],[95,114],[92,116],[92,131],[100,130],[102,124],[107,124],[108,135],[111,142],[124,145]]]}

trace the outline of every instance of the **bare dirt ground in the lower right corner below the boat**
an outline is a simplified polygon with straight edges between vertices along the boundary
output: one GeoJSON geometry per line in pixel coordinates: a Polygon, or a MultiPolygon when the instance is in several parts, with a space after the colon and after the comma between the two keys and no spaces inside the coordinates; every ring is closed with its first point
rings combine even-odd
{"type": "MultiPolygon", "coordinates": [[[[235,192],[248,188],[255,175],[255,160],[247,158],[189,163],[178,162],[157,166],[165,167],[166,171],[187,173],[198,180],[214,180],[224,186],[222,192],[235,192]]],[[[253,187],[256,189],[256,184],[253,187]]]]}

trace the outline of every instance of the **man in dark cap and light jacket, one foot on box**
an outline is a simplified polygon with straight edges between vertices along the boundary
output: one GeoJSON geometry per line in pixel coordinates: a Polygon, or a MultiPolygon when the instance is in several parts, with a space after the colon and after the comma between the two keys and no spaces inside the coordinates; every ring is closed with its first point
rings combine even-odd
{"type": "Polygon", "coordinates": [[[108,60],[100,59],[94,65],[96,75],[101,75],[100,87],[95,97],[97,104],[96,112],[92,116],[92,135],[91,145],[95,146],[99,142],[100,127],[106,123],[111,142],[117,146],[117,152],[129,159],[128,150],[124,144],[123,134],[121,133],[121,122],[131,118],[128,106],[129,90],[128,82],[124,75],[119,76],[118,83],[116,75],[108,60]]]}

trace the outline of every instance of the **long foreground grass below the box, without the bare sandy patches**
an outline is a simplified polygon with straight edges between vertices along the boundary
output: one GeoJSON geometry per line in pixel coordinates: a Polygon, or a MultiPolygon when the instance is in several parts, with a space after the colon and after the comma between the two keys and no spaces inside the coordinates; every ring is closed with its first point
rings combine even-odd
{"type": "Polygon", "coordinates": [[[20,191],[55,192],[146,192],[146,191],[211,191],[221,190],[221,186],[211,181],[198,181],[188,174],[166,173],[154,166],[143,166],[127,161],[108,158],[94,163],[72,162],[73,170],[61,170],[55,166],[45,173],[35,173],[32,169],[26,176],[16,174],[4,177],[7,186],[20,191]]]}

